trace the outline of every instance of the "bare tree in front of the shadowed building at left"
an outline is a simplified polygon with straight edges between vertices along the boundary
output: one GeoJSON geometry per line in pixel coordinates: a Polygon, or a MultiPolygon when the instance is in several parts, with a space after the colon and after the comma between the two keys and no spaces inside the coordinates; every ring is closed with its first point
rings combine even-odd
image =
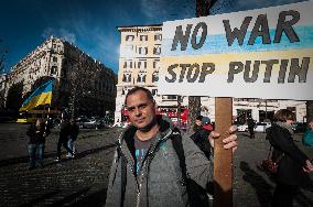
{"type": "Polygon", "coordinates": [[[76,117],[77,108],[83,98],[95,96],[96,79],[100,74],[100,69],[96,64],[88,62],[86,54],[80,53],[78,58],[67,59],[67,81],[69,89],[69,111],[72,118],[76,117]]]}

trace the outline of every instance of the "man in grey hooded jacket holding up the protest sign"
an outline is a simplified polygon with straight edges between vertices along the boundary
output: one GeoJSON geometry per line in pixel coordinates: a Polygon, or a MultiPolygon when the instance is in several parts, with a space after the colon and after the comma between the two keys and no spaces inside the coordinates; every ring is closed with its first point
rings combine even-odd
{"type": "MultiPolygon", "coordinates": [[[[187,134],[155,115],[150,90],[132,88],[125,103],[131,124],[118,141],[106,206],[187,206],[192,196],[187,194],[186,181],[205,188],[213,174],[211,161],[187,134]]],[[[219,134],[212,132],[211,137],[219,134]]],[[[225,149],[234,150],[237,137],[231,134],[223,142],[225,149]]]]}

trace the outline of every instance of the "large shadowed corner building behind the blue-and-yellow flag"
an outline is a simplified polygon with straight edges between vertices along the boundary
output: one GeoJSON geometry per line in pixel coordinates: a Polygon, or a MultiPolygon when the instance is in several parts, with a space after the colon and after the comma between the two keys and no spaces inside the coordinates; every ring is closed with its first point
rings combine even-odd
{"type": "MultiPolygon", "coordinates": [[[[30,91],[46,79],[54,79],[52,107],[63,109],[68,107],[71,84],[76,69],[82,69],[86,77],[79,77],[82,81],[88,80],[88,72],[97,70],[93,76],[89,88],[80,102],[80,110],[87,113],[104,116],[106,111],[115,110],[117,76],[100,62],[91,58],[75,45],[56,37],[48,37],[28,56],[21,59],[8,74],[6,81],[6,97],[12,86],[21,86],[23,99],[30,91]]],[[[84,74],[84,73],[80,73],[84,74]]],[[[4,88],[4,86],[2,86],[4,88]]],[[[7,103],[8,103],[7,99],[7,103]]],[[[10,106],[9,106],[10,107],[10,106]]]]}

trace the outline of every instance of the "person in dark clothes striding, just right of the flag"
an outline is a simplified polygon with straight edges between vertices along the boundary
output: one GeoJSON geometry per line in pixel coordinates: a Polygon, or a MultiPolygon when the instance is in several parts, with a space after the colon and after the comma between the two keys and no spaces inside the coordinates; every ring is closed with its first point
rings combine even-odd
{"type": "Polygon", "coordinates": [[[71,126],[68,123],[68,120],[65,117],[63,117],[62,121],[61,121],[60,137],[58,137],[58,141],[57,141],[57,157],[54,160],[55,162],[61,161],[61,146],[62,145],[72,155],[71,157],[74,159],[74,156],[75,156],[74,152],[67,146],[69,130],[71,130],[71,126]]]}

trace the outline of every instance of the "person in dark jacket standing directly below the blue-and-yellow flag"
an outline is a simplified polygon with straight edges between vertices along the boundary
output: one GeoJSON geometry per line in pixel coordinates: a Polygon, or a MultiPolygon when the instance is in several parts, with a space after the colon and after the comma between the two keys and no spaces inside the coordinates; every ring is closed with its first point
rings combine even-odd
{"type": "Polygon", "coordinates": [[[44,159],[44,148],[45,148],[45,138],[48,135],[50,129],[45,126],[43,119],[36,119],[32,123],[26,134],[30,137],[28,150],[30,156],[30,166],[29,170],[35,168],[35,166],[43,167],[44,159]]]}

